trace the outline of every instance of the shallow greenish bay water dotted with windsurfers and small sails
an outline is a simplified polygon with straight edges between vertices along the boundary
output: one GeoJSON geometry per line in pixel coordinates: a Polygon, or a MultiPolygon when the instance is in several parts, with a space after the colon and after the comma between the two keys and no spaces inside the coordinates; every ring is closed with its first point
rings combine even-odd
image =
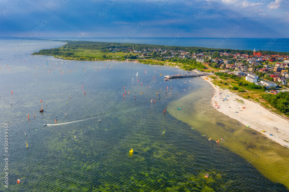
{"type": "Polygon", "coordinates": [[[0,39],[1,191],[289,191],[289,150],[214,110],[202,78],[31,55],[63,44],[0,39]]]}

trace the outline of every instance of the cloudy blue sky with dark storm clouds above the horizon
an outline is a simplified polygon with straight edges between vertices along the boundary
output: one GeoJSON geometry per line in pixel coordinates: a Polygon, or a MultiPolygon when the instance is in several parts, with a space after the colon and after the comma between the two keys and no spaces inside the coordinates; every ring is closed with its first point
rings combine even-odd
{"type": "Polygon", "coordinates": [[[289,0],[0,0],[0,37],[289,38],[289,0]]]}

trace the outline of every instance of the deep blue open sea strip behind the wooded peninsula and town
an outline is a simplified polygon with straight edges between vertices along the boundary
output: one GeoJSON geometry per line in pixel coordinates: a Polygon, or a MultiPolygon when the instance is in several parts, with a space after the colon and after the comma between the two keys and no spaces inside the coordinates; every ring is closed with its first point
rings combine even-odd
{"type": "MultiPolygon", "coordinates": [[[[40,39],[60,39],[60,40],[78,40],[75,38],[40,38],[40,39]]],[[[153,45],[173,45],[173,46],[196,46],[207,48],[225,48],[237,50],[266,50],[289,52],[289,39],[285,38],[160,38],[160,37],[143,37],[143,38],[98,38],[98,37],[82,37],[82,41],[97,41],[97,42],[125,42],[125,43],[140,43],[153,45]]]]}

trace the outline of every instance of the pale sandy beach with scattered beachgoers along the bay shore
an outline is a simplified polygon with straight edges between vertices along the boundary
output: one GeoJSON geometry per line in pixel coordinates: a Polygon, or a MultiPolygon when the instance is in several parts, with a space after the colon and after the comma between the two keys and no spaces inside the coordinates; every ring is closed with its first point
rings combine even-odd
{"type": "Polygon", "coordinates": [[[220,89],[219,86],[212,83],[212,79],[205,79],[206,76],[202,78],[215,89],[211,104],[217,111],[236,119],[245,126],[250,126],[249,128],[262,133],[281,146],[289,148],[289,142],[286,142],[289,141],[289,122],[287,120],[271,113],[257,103],[239,97],[228,90],[220,89]],[[236,99],[243,100],[244,103],[240,103],[236,99]],[[262,130],[266,132],[262,132],[262,130]]]}

